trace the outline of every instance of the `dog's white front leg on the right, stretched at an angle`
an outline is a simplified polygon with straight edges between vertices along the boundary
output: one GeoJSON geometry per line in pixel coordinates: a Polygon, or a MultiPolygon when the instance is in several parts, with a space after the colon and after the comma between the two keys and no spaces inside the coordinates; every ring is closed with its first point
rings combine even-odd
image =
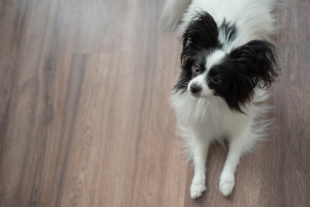
{"type": "Polygon", "coordinates": [[[235,172],[239,164],[240,157],[249,150],[251,146],[250,126],[239,136],[233,137],[229,141],[229,151],[219,179],[219,191],[223,196],[229,196],[235,186],[235,172]]]}

